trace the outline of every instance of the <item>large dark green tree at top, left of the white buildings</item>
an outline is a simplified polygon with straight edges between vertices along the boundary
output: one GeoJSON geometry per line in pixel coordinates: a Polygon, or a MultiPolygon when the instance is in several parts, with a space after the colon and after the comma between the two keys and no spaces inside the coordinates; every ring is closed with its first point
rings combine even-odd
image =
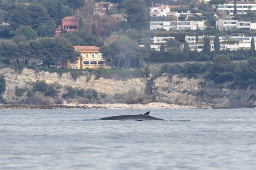
{"type": "Polygon", "coordinates": [[[127,23],[131,28],[142,30],[148,28],[149,10],[142,0],[127,0],[124,4],[127,23]]]}

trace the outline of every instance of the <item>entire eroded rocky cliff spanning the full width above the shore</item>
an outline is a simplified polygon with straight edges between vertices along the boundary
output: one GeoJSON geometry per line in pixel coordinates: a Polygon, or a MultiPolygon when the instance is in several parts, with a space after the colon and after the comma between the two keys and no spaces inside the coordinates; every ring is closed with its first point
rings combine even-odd
{"type": "MultiPolygon", "coordinates": [[[[61,87],[69,85],[73,88],[93,88],[99,93],[110,95],[127,93],[130,90],[137,91],[140,94],[146,92],[151,94],[154,102],[176,105],[192,105],[202,108],[252,108],[256,106],[255,88],[232,90],[227,88],[227,84],[216,85],[214,82],[205,81],[203,78],[188,79],[177,75],[169,77],[167,74],[163,74],[154,80],[146,80],[145,78],[116,80],[102,77],[95,79],[93,75],[81,75],[75,81],[70,73],[64,73],[60,76],[57,73],[38,72],[26,68],[20,73],[13,69],[2,68],[0,74],[4,74],[6,79],[7,87],[3,94],[6,103],[15,103],[26,98],[26,93],[17,97],[15,87],[31,90],[36,80],[44,79],[47,83],[57,83],[61,87]]],[[[59,89],[59,94],[55,98],[44,96],[44,100],[61,98],[61,94],[64,93],[64,89],[61,89],[59,89]]]]}

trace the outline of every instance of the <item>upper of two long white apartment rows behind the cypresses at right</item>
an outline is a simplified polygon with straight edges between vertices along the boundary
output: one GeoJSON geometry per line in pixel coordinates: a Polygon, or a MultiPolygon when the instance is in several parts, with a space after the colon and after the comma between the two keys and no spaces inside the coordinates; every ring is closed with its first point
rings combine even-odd
{"type": "MultiPolygon", "coordinates": [[[[256,37],[253,37],[256,41],[256,37]]],[[[210,42],[214,43],[215,36],[209,37],[210,42]]],[[[227,41],[227,37],[219,37],[220,42],[227,41]]],[[[204,40],[204,36],[198,36],[198,41],[204,40]]],[[[252,37],[245,37],[245,36],[231,36],[230,41],[237,41],[241,43],[250,43],[252,40],[252,37]]],[[[196,43],[196,36],[187,36],[185,37],[185,42],[188,44],[195,44],[196,43]]]]}

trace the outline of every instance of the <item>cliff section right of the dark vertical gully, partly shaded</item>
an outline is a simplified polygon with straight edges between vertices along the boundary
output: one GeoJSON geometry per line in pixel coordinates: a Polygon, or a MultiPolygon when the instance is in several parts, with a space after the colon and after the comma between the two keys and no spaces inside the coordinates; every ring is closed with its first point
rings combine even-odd
{"type": "Polygon", "coordinates": [[[256,90],[227,88],[227,84],[215,84],[202,78],[168,77],[163,74],[154,79],[152,89],[155,101],[177,105],[196,105],[212,108],[255,107],[256,90]]]}

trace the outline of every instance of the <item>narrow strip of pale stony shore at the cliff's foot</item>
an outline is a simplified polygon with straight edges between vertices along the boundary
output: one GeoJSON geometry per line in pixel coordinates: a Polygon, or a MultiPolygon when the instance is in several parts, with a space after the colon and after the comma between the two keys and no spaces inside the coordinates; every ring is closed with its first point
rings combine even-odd
{"type": "MultiPolygon", "coordinates": [[[[195,109],[197,106],[174,105],[160,102],[148,104],[64,104],[64,105],[0,105],[0,109],[195,109]]],[[[210,108],[210,107],[205,107],[210,108]]]]}

